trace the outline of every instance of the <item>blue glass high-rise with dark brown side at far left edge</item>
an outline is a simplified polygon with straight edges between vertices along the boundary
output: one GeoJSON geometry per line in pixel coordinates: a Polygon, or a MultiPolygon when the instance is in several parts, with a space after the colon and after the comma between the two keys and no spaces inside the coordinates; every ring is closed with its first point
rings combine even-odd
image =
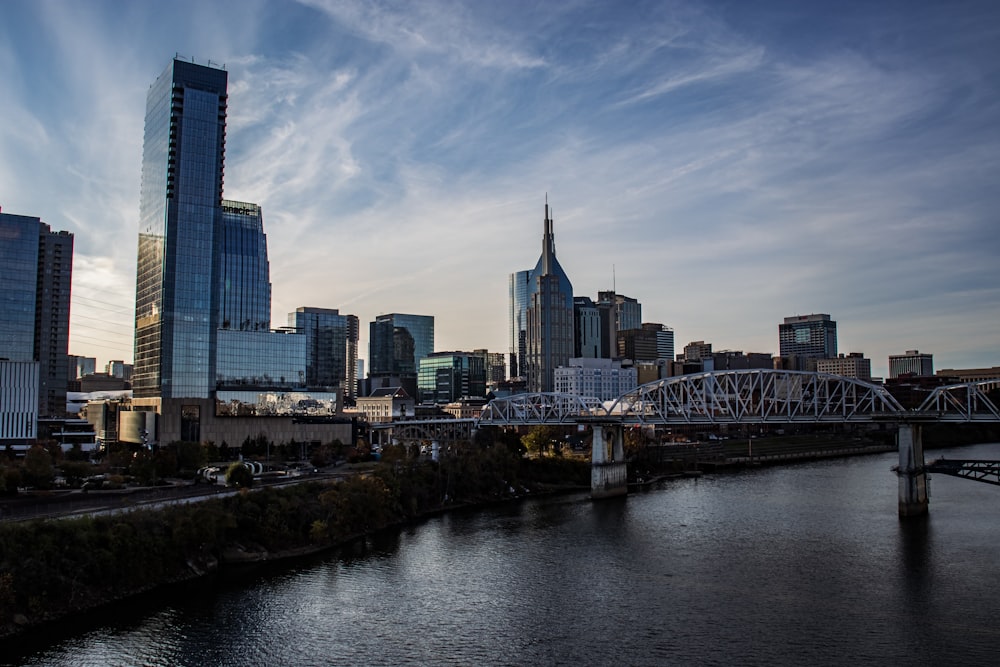
{"type": "MultiPolygon", "coordinates": [[[[37,364],[36,371],[12,366],[3,374],[13,383],[4,391],[17,388],[18,416],[13,416],[13,402],[0,404],[0,411],[18,421],[24,416],[21,408],[33,404],[29,421],[62,417],[69,373],[73,235],[53,232],[39,218],[0,212],[0,239],[0,361],[37,364]],[[35,378],[34,388],[29,377],[35,378]],[[31,392],[30,398],[25,391],[31,392]]],[[[8,398],[14,401],[12,394],[8,398]]]]}

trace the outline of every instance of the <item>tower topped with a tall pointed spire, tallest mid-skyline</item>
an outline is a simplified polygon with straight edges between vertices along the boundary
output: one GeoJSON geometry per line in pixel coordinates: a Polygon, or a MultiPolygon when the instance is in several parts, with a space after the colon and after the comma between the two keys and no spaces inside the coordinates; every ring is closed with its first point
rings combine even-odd
{"type": "Polygon", "coordinates": [[[556,259],[548,196],[542,254],[529,280],[527,324],[528,391],[552,391],[556,367],[573,356],[573,285],[556,259]]]}

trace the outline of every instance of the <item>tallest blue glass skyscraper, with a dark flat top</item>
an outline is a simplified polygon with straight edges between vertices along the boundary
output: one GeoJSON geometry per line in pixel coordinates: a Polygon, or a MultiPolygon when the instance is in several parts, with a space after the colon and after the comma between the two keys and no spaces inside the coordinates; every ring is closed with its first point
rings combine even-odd
{"type": "Polygon", "coordinates": [[[214,388],[226,85],[225,70],[175,58],[146,97],[132,376],[137,398],[208,398],[214,388]]]}

